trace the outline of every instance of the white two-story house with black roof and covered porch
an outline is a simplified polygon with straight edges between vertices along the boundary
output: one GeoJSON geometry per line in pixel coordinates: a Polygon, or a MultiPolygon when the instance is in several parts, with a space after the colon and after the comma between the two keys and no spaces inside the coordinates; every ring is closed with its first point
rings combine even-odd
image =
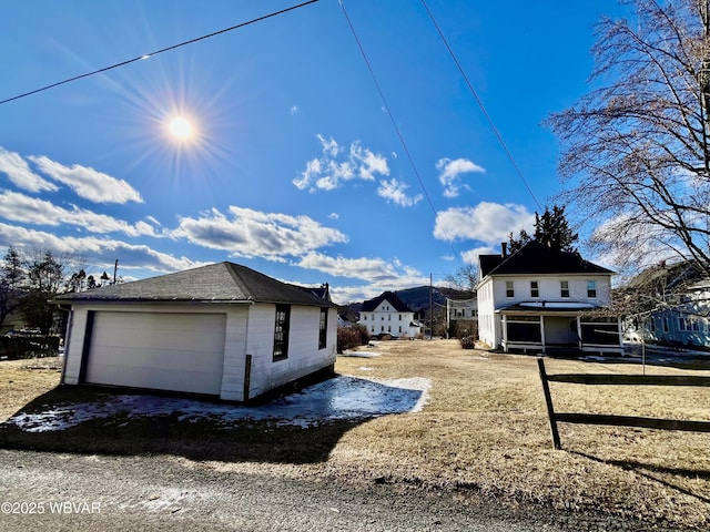
{"type": "Polygon", "coordinates": [[[478,335],[504,351],[621,354],[611,303],[611,270],[578,253],[530,242],[514,254],[481,255],[478,335]]]}

